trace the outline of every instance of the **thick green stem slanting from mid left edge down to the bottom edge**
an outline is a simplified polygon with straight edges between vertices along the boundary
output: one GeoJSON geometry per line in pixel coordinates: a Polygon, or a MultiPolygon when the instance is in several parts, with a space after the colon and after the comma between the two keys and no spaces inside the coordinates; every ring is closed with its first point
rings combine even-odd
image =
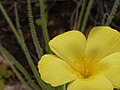
{"type": "Polygon", "coordinates": [[[33,82],[30,75],[25,70],[25,68],[1,44],[0,44],[0,52],[2,52],[7,58],[9,58],[14,63],[14,65],[17,67],[17,69],[20,70],[20,72],[31,83],[31,85],[34,86],[34,88],[36,88],[37,90],[40,90],[38,85],[33,82]]]}

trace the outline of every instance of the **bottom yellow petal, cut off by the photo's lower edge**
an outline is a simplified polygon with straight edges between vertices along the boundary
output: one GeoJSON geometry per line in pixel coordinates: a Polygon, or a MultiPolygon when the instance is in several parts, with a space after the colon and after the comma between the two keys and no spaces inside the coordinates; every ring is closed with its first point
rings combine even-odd
{"type": "Polygon", "coordinates": [[[102,76],[91,79],[77,79],[68,84],[67,90],[113,90],[112,84],[102,76]]]}

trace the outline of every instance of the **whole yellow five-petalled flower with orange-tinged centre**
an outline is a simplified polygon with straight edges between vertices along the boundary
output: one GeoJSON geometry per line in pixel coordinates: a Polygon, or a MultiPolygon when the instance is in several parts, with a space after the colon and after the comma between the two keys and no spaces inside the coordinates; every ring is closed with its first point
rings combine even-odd
{"type": "Polygon", "coordinates": [[[38,63],[42,80],[52,86],[68,83],[67,90],[120,88],[120,33],[108,26],[91,30],[88,38],[72,30],[49,42],[56,54],[38,63]]]}

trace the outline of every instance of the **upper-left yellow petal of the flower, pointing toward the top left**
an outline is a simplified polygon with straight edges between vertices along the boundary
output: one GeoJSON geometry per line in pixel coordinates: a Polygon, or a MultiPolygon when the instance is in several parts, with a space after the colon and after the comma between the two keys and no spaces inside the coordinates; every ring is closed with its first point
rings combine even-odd
{"type": "Polygon", "coordinates": [[[56,36],[49,42],[51,50],[72,67],[78,69],[85,55],[86,38],[72,30],[56,36]]]}

